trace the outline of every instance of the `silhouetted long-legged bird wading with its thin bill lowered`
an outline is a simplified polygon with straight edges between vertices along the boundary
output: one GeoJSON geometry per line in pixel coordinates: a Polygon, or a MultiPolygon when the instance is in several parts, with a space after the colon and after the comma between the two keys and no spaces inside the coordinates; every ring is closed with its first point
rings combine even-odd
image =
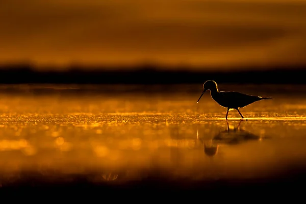
{"type": "Polygon", "coordinates": [[[236,91],[219,91],[218,85],[215,81],[208,80],[203,84],[203,92],[200,95],[197,103],[201,99],[202,95],[207,91],[210,90],[211,97],[222,107],[227,108],[225,119],[227,120],[228,111],[230,109],[235,109],[238,111],[239,115],[241,116],[241,120],[244,119],[243,115],[239,111],[240,108],[244,108],[256,101],[259,100],[266,100],[266,99],[273,99],[272,97],[263,97],[263,96],[254,96],[248,95],[244,93],[239,93],[236,91]]]}

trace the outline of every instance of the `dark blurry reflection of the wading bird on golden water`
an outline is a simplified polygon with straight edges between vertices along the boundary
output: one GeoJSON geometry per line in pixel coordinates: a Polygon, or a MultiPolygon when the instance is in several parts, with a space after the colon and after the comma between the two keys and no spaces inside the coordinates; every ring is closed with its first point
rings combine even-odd
{"type": "Polygon", "coordinates": [[[217,154],[219,149],[219,144],[226,144],[226,145],[235,145],[241,142],[249,141],[249,140],[262,140],[263,138],[257,135],[254,135],[248,131],[240,129],[240,121],[236,128],[230,129],[230,126],[227,123],[226,130],[219,132],[215,135],[209,142],[206,144],[199,139],[202,144],[204,144],[204,152],[207,156],[213,157],[217,154]]]}

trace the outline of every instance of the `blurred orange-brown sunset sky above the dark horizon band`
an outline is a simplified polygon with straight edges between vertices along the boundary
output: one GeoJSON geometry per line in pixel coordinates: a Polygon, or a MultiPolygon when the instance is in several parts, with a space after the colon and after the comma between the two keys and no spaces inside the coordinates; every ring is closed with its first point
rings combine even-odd
{"type": "Polygon", "coordinates": [[[306,65],[306,0],[1,0],[0,63],[306,65]]]}

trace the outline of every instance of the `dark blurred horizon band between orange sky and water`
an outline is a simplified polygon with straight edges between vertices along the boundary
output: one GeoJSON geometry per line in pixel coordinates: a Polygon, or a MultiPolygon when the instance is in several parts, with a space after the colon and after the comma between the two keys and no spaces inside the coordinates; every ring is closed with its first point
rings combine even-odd
{"type": "Polygon", "coordinates": [[[240,84],[306,84],[304,67],[242,71],[161,70],[154,66],[116,70],[84,68],[38,71],[31,66],[0,66],[0,84],[198,84],[206,80],[240,84]]]}

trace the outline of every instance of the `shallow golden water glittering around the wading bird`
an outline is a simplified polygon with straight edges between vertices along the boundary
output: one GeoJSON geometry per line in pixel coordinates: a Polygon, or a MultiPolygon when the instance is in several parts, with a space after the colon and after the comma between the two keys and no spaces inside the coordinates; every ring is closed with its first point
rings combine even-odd
{"type": "Polygon", "coordinates": [[[257,179],[303,165],[306,95],[296,91],[303,87],[228,87],[274,100],[241,109],[248,121],[230,111],[226,122],[209,93],[196,103],[201,85],[117,86],[115,94],[110,86],[3,86],[0,185],[29,173],[54,182],[257,179]]]}

